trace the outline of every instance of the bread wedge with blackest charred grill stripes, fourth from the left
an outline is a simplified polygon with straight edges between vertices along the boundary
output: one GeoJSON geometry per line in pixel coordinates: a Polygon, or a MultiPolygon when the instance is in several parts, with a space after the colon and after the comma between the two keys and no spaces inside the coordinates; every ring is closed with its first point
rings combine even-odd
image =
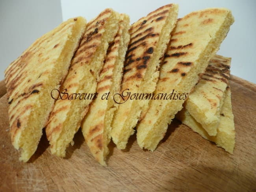
{"type": "MultiPolygon", "coordinates": [[[[122,78],[123,96],[127,92],[133,94],[154,91],[159,77],[160,60],[167,48],[177,15],[178,6],[169,4],[132,24],[122,78]]],[[[147,108],[148,101],[124,102],[118,95],[115,96],[115,100],[121,104],[113,118],[111,137],[117,148],[124,149],[128,138],[134,133],[133,128],[139,120],[141,111],[147,108]]]]}

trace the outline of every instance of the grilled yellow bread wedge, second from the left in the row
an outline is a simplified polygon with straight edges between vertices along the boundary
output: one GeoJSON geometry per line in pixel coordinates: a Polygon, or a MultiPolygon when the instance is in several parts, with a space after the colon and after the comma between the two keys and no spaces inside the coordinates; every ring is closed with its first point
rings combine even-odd
{"type": "Polygon", "coordinates": [[[66,148],[72,144],[74,134],[96,97],[97,79],[103,67],[109,43],[119,29],[119,14],[105,9],[87,24],[87,30],[60,92],[62,99],[56,100],[46,126],[52,154],[65,157],[66,148]]]}

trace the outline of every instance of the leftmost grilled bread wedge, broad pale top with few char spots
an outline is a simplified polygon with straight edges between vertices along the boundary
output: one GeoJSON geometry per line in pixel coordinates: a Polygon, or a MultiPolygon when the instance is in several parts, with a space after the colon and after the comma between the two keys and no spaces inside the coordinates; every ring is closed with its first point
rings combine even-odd
{"type": "Polygon", "coordinates": [[[37,149],[54,100],[52,89],[67,75],[70,61],[85,31],[82,17],[69,19],[37,39],[5,71],[11,141],[22,148],[20,161],[37,149]]]}

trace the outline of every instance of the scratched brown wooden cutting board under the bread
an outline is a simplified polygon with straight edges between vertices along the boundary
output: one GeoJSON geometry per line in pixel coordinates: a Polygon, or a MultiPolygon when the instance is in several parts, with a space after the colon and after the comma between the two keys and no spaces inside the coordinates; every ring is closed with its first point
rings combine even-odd
{"type": "Polygon", "coordinates": [[[0,191],[256,191],[256,85],[232,76],[234,155],[180,124],[169,126],[156,151],[130,138],[124,151],[110,144],[108,167],[90,154],[81,131],[67,158],[50,155],[45,134],[28,163],[11,145],[6,96],[0,99],[0,191]]]}

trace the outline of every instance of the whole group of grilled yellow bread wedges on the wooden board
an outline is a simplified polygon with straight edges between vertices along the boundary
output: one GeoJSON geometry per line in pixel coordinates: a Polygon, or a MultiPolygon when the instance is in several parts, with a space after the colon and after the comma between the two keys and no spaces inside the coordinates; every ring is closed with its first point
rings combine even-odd
{"type": "Polygon", "coordinates": [[[13,61],[5,83],[20,161],[35,153],[44,128],[51,153],[65,157],[81,127],[106,166],[111,139],[125,149],[137,130],[138,145],[154,151],[175,115],[233,153],[231,58],[216,55],[232,13],[208,8],[177,17],[178,5],[168,4],[132,25],[113,9],[88,23],[71,18],[13,61]]]}

